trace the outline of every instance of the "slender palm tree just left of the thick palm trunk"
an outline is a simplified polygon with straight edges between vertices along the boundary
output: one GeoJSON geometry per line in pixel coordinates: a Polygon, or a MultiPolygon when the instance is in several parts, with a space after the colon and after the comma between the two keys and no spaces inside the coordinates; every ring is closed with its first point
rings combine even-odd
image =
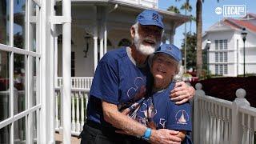
{"type": "MultiPolygon", "coordinates": [[[[186,0],[186,2],[182,5],[181,10],[185,10],[185,15],[186,11],[191,12],[192,11],[192,6],[190,6],[190,1],[186,0]]],[[[184,51],[184,70],[186,72],[186,22],[185,22],[185,51],[184,51]]]]}

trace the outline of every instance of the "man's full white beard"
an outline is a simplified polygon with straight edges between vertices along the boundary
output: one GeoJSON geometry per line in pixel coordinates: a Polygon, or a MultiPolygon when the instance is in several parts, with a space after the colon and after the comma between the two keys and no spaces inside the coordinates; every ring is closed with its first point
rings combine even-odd
{"type": "Polygon", "coordinates": [[[150,55],[153,54],[154,51],[158,48],[158,46],[160,46],[160,42],[156,42],[154,44],[154,46],[145,46],[142,44],[143,40],[146,38],[140,38],[140,36],[138,35],[138,30],[135,30],[135,34],[134,34],[134,45],[136,46],[136,49],[144,55],[150,55]]]}

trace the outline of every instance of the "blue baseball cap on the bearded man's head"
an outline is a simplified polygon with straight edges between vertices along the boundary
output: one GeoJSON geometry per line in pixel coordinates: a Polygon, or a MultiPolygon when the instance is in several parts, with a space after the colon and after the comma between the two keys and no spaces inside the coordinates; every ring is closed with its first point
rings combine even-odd
{"type": "Polygon", "coordinates": [[[144,10],[141,14],[138,14],[136,22],[141,25],[154,25],[164,29],[162,23],[162,15],[158,14],[155,10],[144,10]]]}

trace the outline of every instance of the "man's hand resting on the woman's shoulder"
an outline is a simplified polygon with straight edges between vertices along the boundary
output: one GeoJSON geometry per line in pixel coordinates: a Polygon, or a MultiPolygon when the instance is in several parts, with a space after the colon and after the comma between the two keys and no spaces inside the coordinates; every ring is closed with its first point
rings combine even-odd
{"type": "Polygon", "coordinates": [[[185,82],[176,82],[174,90],[170,91],[170,99],[175,101],[176,104],[182,104],[193,98],[195,90],[193,86],[186,85],[185,82]]]}

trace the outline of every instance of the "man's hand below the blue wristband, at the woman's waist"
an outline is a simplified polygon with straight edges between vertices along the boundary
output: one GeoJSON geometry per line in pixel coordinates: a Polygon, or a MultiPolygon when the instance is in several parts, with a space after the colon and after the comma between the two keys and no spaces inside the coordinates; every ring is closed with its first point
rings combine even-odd
{"type": "Polygon", "coordinates": [[[159,143],[159,144],[180,144],[182,138],[178,138],[178,131],[159,129],[152,130],[150,136],[150,143],[159,143]]]}

